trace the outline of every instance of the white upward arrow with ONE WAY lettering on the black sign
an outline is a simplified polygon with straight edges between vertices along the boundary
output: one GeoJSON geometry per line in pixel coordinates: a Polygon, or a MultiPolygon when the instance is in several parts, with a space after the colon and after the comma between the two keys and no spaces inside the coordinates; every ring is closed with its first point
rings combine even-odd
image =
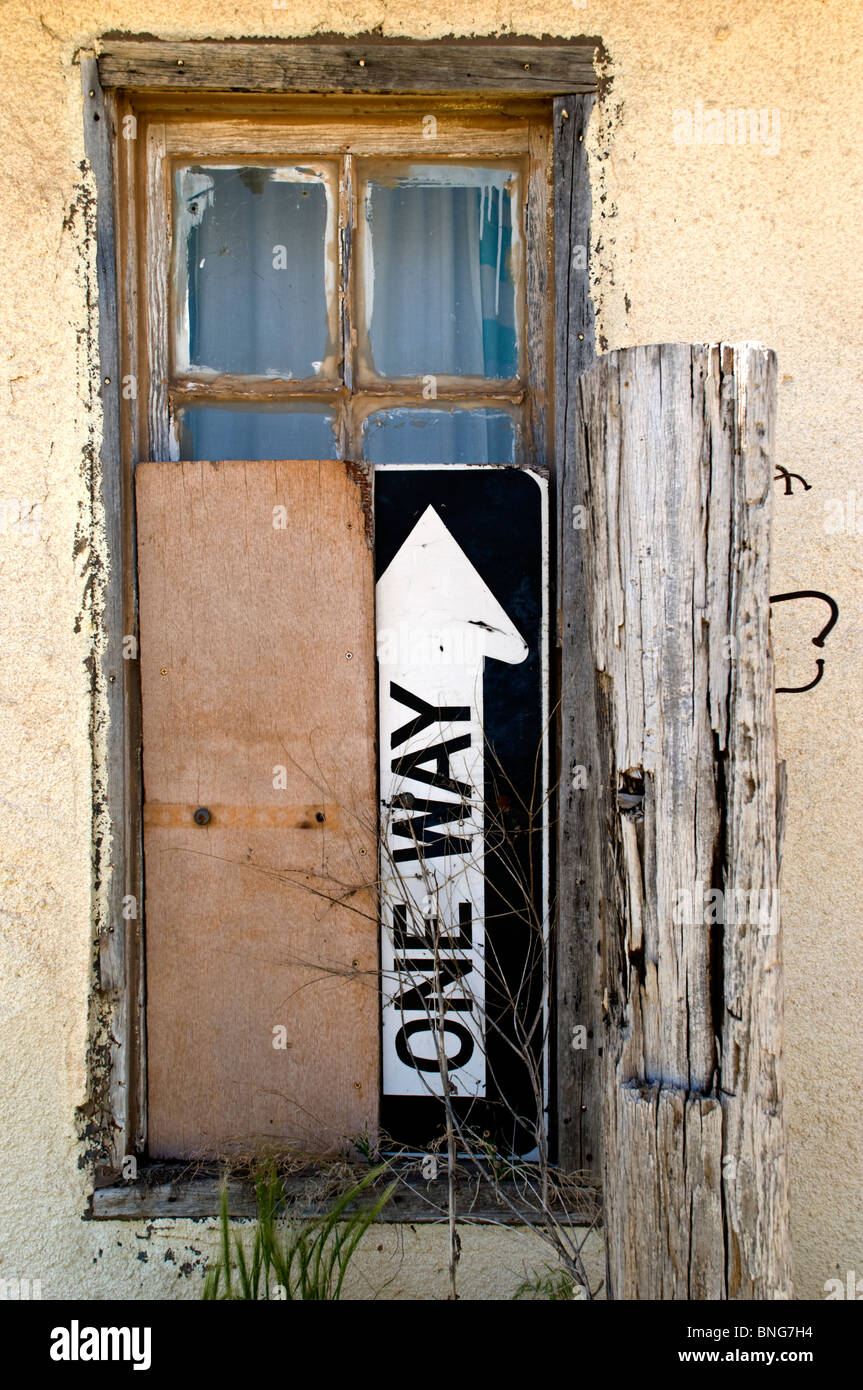
{"type": "Polygon", "coordinates": [[[528,646],[432,506],[377,584],[384,1093],[485,1095],[486,656],[528,646]]]}

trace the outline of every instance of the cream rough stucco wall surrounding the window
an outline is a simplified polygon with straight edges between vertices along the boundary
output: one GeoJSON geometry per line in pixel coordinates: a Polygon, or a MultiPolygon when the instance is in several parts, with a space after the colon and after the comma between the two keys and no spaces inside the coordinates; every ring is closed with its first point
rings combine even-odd
{"type": "MultiPolygon", "coordinates": [[[[863,531],[862,19],[860,0],[0,4],[1,1276],[40,1279],[44,1297],[195,1295],[211,1241],[202,1225],[81,1220],[93,626],[76,537],[89,524],[99,418],[88,409],[93,247],[74,56],[110,31],[302,36],[377,25],[411,38],[600,35],[613,76],[591,132],[603,343],[757,338],[778,353],[778,461],[812,491],[777,488],[774,592],[825,589],[841,607],[823,682],[778,696],[791,783],[782,894],[796,1290],[821,1297],[834,1273],[863,1273],[863,537],[824,528],[828,499],[856,489],[863,531]],[[698,100],[778,110],[778,152],[675,145],[674,111],[698,100]],[[29,521],[21,507],[36,509],[29,521]]],[[[806,624],[817,631],[821,606],[784,605],[775,617],[780,684],[802,684],[817,655],[806,624]]],[[[363,1270],[375,1289],[392,1276],[382,1295],[445,1295],[442,1233],[388,1232],[377,1244],[363,1270]]],[[[527,1266],[541,1265],[541,1248],[471,1232],[464,1291],[509,1295],[525,1248],[527,1266]]]]}

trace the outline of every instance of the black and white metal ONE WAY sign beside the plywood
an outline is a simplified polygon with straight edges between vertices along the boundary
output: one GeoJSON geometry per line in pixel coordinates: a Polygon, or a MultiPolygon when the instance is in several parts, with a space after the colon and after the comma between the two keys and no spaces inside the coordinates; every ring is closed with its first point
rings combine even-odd
{"type": "Polygon", "coordinates": [[[445,1093],[499,1130],[536,1113],[546,530],[527,470],[375,473],[384,1123],[402,1138],[445,1093]]]}

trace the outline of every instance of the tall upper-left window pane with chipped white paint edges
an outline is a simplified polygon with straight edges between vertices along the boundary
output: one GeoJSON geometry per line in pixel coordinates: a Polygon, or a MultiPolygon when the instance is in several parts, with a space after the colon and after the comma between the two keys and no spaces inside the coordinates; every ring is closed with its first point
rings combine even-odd
{"type": "Polygon", "coordinates": [[[178,370],[332,375],[335,215],[324,171],[193,165],[178,170],[174,193],[178,370]]]}

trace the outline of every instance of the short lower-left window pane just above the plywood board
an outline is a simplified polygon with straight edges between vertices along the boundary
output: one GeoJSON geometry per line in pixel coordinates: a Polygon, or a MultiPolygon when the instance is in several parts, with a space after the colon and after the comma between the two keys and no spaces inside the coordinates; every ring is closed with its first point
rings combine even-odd
{"type": "Polygon", "coordinates": [[[335,459],[334,413],[292,406],[188,406],[178,411],[181,459],[335,459]]]}

